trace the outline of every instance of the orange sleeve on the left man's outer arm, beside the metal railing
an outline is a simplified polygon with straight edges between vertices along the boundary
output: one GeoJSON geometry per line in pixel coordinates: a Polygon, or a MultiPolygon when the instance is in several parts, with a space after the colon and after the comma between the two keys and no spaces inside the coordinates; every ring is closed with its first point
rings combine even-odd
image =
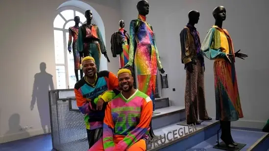
{"type": "Polygon", "coordinates": [[[84,98],[82,96],[82,94],[79,92],[78,89],[75,89],[74,88],[74,93],[75,93],[75,99],[76,99],[76,105],[79,109],[79,111],[82,113],[82,114],[89,114],[90,112],[90,106],[91,104],[89,104],[87,101],[86,101],[86,98],[84,98]]]}

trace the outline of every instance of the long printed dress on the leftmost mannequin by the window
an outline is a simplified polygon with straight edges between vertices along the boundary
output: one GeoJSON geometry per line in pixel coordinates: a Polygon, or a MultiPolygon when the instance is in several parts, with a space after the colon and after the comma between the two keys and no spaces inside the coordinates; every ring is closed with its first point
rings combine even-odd
{"type": "Polygon", "coordinates": [[[78,28],[70,27],[69,28],[68,50],[71,51],[71,44],[72,44],[73,57],[74,57],[74,69],[75,70],[81,69],[81,66],[80,66],[81,60],[80,60],[79,52],[77,51],[77,48],[76,48],[77,36],[78,36],[78,28]],[[72,43],[72,37],[73,37],[73,43],[72,43]]]}

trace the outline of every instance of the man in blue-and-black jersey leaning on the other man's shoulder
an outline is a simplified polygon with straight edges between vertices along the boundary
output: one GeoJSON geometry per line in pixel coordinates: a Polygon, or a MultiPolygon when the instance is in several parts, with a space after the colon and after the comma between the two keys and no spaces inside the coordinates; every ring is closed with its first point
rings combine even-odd
{"type": "Polygon", "coordinates": [[[97,72],[97,66],[93,57],[82,59],[84,77],[74,86],[76,104],[82,114],[85,114],[85,125],[89,141],[89,148],[102,135],[105,98],[98,96],[109,89],[118,87],[118,78],[112,72],[97,72]]]}

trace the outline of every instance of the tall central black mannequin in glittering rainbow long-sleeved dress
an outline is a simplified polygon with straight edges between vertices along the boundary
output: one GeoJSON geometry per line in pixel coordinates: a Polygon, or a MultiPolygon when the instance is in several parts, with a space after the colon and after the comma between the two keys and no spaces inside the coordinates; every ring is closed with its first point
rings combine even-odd
{"type": "MultiPolygon", "coordinates": [[[[129,62],[124,67],[131,67],[134,62],[137,88],[151,98],[154,111],[157,67],[161,73],[165,71],[161,65],[152,26],[146,22],[146,15],[149,12],[147,0],[140,0],[137,3],[137,10],[138,19],[130,22],[129,62]]],[[[149,136],[154,137],[151,123],[149,136]]]]}

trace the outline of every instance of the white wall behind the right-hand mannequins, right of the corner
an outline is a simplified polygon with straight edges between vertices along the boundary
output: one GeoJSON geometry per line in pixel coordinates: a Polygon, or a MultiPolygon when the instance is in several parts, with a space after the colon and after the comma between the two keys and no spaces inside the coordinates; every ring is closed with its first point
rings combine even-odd
{"type": "MultiPolygon", "coordinates": [[[[139,0],[121,0],[122,19],[129,31],[129,22],[136,19],[136,3],[139,0]]],[[[247,53],[244,61],[236,59],[241,104],[245,118],[233,122],[234,126],[262,128],[269,118],[269,42],[267,30],[268,15],[266,0],[148,0],[149,14],[147,21],[153,26],[157,47],[165,71],[169,74],[170,89],[162,95],[171,99],[172,105],[184,106],[185,70],[180,60],[179,33],[188,22],[188,12],[198,10],[200,21],[196,28],[201,42],[207,30],[214,24],[212,10],[223,5],[227,11],[226,28],[237,51],[247,53]],[[172,91],[175,88],[175,91],[172,91]]],[[[211,117],[216,116],[213,61],[205,61],[206,106],[211,117]]]]}

